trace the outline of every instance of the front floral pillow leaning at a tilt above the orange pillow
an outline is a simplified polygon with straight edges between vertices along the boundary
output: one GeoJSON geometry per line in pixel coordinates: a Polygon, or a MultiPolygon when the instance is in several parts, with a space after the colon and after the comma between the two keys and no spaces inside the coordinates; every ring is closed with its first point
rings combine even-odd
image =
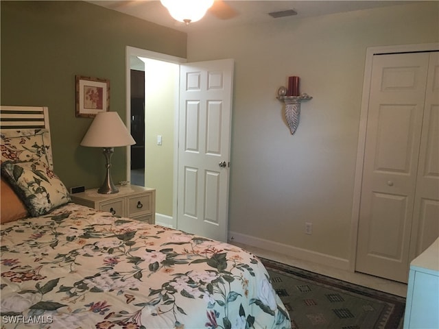
{"type": "Polygon", "coordinates": [[[44,162],[3,162],[1,175],[33,217],[71,202],[66,186],[44,162]]]}

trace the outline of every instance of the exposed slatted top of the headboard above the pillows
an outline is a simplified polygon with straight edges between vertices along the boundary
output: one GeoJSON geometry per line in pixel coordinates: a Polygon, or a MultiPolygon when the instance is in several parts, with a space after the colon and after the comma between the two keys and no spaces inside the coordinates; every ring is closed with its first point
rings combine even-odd
{"type": "Polygon", "coordinates": [[[46,128],[49,130],[47,107],[0,106],[0,129],[46,128]]]}

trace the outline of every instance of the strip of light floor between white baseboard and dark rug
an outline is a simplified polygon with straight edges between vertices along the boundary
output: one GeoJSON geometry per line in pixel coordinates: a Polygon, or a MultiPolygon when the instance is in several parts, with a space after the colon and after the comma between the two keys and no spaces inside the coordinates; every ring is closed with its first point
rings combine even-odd
{"type": "Polygon", "coordinates": [[[251,252],[256,256],[262,258],[268,258],[278,263],[299,267],[300,269],[306,269],[307,271],[319,273],[324,276],[330,276],[331,278],[337,278],[339,280],[344,280],[347,282],[351,282],[353,284],[358,284],[363,287],[384,291],[385,293],[392,293],[393,295],[398,295],[401,297],[406,297],[407,295],[407,284],[403,284],[401,282],[386,280],[383,278],[378,278],[376,276],[369,276],[364,273],[358,273],[358,272],[353,273],[351,271],[345,271],[342,269],[336,269],[333,267],[319,265],[316,263],[310,263],[307,262],[306,260],[298,260],[296,258],[292,258],[284,254],[270,252],[268,250],[261,249],[258,247],[253,247],[250,245],[243,245],[235,242],[232,243],[234,245],[238,245],[239,247],[248,250],[248,252],[251,252]]]}

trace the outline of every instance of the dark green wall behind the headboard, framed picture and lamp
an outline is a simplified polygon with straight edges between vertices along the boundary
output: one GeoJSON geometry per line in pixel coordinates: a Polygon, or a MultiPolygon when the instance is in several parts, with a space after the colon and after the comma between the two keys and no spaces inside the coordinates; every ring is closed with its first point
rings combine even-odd
{"type": "MultiPolygon", "coordinates": [[[[47,106],[56,173],[67,187],[100,186],[101,149],[80,141],[75,75],[110,80],[110,110],[126,119],[126,46],[186,58],[187,34],[84,1],[1,1],[1,105],[47,106]]],[[[112,158],[126,180],[126,149],[112,158]]]]}

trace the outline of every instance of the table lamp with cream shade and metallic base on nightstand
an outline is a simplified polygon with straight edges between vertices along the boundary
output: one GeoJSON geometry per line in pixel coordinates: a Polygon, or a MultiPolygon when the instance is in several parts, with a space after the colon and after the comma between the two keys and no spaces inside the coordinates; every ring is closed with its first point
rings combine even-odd
{"type": "Polygon", "coordinates": [[[97,190],[97,193],[112,194],[118,193],[119,190],[112,182],[110,168],[111,156],[115,147],[133,145],[136,142],[132,138],[126,125],[123,124],[117,112],[99,112],[80,145],[88,147],[102,147],[106,158],[106,178],[104,184],[97,190]]]}

